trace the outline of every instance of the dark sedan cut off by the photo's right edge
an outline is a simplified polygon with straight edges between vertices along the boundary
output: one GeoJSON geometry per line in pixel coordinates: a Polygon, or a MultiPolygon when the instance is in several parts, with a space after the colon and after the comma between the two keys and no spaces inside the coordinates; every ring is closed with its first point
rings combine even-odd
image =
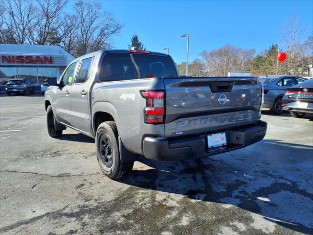
{"type": "Polygon", "coordinates": [[[313,79],[288,88],[282,106],[294,118],[313,114],[313,79]]]}

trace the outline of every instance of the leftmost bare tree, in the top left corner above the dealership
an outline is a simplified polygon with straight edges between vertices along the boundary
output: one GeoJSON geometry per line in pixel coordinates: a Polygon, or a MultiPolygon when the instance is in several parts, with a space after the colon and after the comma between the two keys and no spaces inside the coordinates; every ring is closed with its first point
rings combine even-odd
{"type": "Polygon", "coordinates": [[[9,38],[18,44],[24,44],[30,37],[35,24],[35,7],[29,0],[3,0],[1,30],[3,39],[9,38]],[[4,28],[5,27],[5,28],[4,28]],[[3,35],[4,34],[4,35],[3,35]],[[5,36],[6,34],[6,36],[5,36]]]}

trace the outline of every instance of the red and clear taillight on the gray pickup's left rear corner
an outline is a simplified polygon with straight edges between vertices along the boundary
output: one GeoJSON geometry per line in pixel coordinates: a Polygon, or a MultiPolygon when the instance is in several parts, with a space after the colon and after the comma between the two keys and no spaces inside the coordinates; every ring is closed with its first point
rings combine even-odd
{"type": "Polygon", "coordinates": [[[140,91],[140,94],[146,99],[144,122],[149,124],[164,123],[164,91],[140,91]]]}

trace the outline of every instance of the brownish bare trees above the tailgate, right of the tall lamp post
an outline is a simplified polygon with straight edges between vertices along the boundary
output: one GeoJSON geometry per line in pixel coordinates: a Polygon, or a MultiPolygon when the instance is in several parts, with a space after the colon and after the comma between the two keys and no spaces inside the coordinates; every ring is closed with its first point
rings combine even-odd
{"type": "Polygon", "coordinates": [[[254,54],[254,49],[246,50],[226,45],[217,50],[203,50],[200,56],[207,75],[226,76],[230,71],[247,71],[254,54]]]}

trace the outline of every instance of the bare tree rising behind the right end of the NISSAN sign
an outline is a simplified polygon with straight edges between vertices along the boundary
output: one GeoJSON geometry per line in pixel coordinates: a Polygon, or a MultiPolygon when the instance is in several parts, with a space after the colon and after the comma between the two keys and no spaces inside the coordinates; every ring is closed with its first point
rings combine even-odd
{"type": "Polygon", "coordinates": [[[31,42],[38,45],[56,45],[62,41],[59,28],[62,22],[62,10],[67,0],[36,0],[38,14],[33,28],[31,42]]]}

